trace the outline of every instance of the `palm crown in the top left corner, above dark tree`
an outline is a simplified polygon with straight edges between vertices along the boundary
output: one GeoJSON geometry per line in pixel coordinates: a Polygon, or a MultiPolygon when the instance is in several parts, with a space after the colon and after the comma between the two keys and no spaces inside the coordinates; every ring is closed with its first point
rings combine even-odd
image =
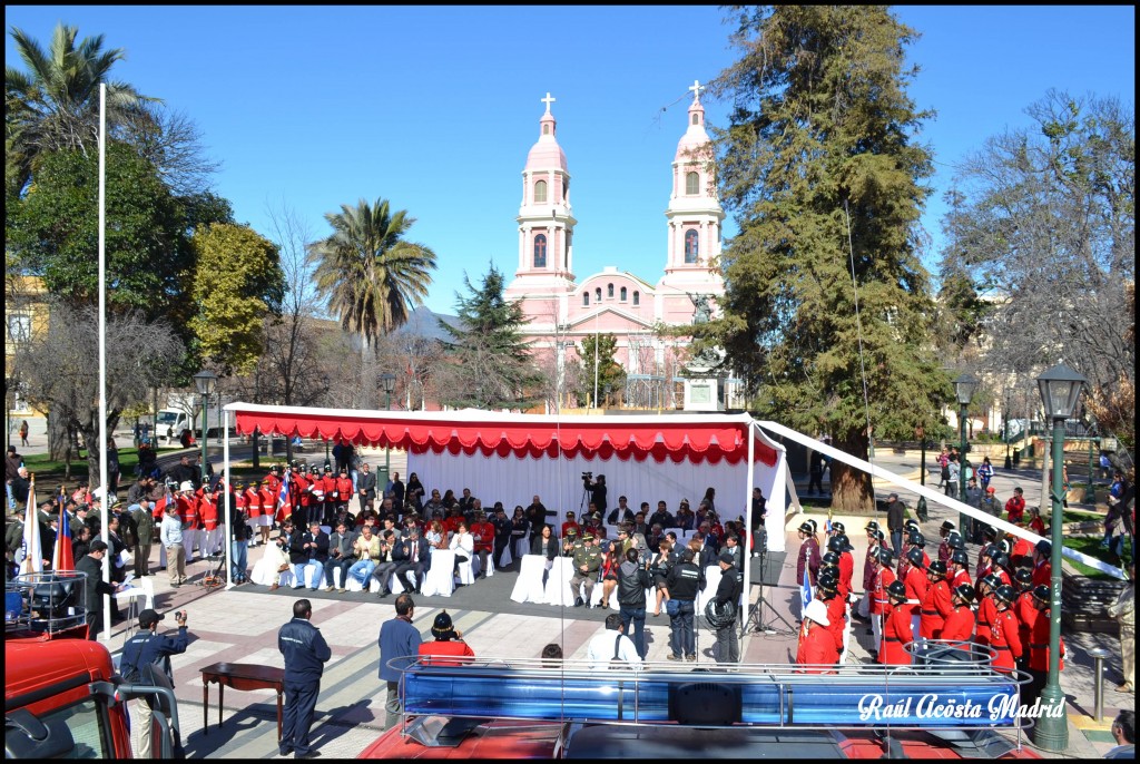
{"type": "Polygon", "coordinates": [[[63,148],[85,151],[98,144],[99,83],[107,86],[107,129],[130,121],[146,122],[146,106],[157,98],[139,95],[124,82],[107,80],[111,67],[122,60],[122,48],[103,49],[103,35],[84,38],[79,46],[74,26],[59,24],[44,51],[17,27],[11,29],[27,72],[5,70],[6,179],[18,193],[27,184],[41,152],[63,148]]]}

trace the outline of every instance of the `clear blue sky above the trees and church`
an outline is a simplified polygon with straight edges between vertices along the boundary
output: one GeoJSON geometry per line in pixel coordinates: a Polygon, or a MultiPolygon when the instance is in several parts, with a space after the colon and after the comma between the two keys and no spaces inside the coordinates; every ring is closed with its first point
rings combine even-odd
{"type": "MultiPolygon", "coordinates": [[[[922,34],[910,92],[937,112],[921,136],[937,168],[923,217],[934,267],[942,193],[987,137],[1027,124],[1025,107],[1049,88],[1134,103],[1135,10],[895,13],[922,34]]],[[[514,273],[520,172],[547,91],[573,178],[578,278],[616,265],[657,282],[686,88],[735,58],[723,18],[684,6],[6,8],[9,30],[44,46],[63,21],[124,48],[116,79],[196,121],[222,163],[215,189],[263,234],[283,201],[317,236],[326,212],[360,197],[408,210],[409,238],[438,255],[427,306],[441,312],[464,270],[514,273]]],[[[725,105],[705,103],[724,125],[725,105]]]]}

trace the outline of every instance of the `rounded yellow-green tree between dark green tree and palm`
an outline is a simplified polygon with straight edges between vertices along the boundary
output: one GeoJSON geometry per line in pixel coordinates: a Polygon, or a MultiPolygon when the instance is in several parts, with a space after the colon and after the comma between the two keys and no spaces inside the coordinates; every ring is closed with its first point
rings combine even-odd
{"type": "Polygon", "coordinates": [[[253,369],[264,350],[263,322],[285,288],[277,245],[249,226],[215,223],[192,239],[196,253],[190,330],[198,351],[223,375],[253,369]]]}

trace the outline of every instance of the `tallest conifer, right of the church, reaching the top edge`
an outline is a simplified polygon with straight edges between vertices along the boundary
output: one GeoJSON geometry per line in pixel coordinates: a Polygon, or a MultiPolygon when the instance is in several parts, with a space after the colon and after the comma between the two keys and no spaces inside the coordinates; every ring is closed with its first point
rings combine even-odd
{"type": "MultiPolygon", "coordinates": [[[[912,437],[948,393],[923,350],[931,166],[913,139],[929,114],[905,90],[915,33],[883,7],[733,15],[742,57],[716,83],[734,103],[717,171],[740,234],[723,254],[724,317],[695,333],[725,348],[765,416],[865,457],[868,418],[878,437],[912,437]]],[[[836,506],[870,497],[862,473],[839,468],[832,486],[836,506]]]]}

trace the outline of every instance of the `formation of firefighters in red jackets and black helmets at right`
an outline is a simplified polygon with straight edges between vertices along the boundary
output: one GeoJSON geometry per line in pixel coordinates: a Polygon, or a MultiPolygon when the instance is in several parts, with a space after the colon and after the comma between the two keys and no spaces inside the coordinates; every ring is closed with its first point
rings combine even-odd
{"type": "MultiPolygon", "coordinates": [[[[966,546],[954,523],[942,523],[938,559],[931,560],[914,520],[903,533],[905,548],[896,555],[879,523],[866,523],[863,567],[864,598],[852,612],[854,547],[841,522],[832,522],[823,551],[814,521],[799,527],[801,541],[797,583],[813,584],[814,599],[804,609],[796,663],[809,673],[829,673],[826,665],[847,661],[852,617],[870,620],[880,664],[911,663],[907,647],[926,640],[980,645],[996,670],[1026,672],[1032,682],[1023,702],[1033,704],[1049,670],[1050,553],[1048,541],[1036,547],[1021,538],[999,541],[986,528],[970,577],[966,546]],[[896,567],[897,563],[897,567],[896,567]]],[[[1061,642],[1064,668],[1065,643],[1061,642]]]]}

